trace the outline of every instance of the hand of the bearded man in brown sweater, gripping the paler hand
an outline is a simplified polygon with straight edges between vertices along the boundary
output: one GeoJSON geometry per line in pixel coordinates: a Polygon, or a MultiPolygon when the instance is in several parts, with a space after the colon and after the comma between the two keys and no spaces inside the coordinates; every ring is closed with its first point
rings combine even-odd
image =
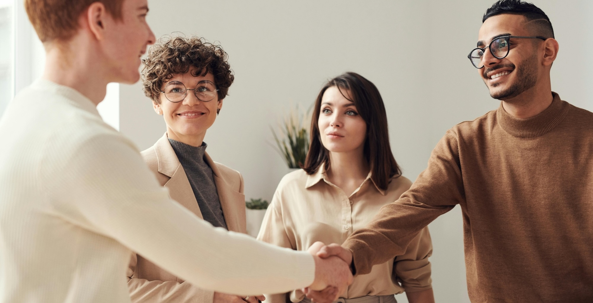
{"type": "MultiPolygon", "coordinates": [[[[311,254],[316,254],[318,257],[322,259],[335,259],[336,257],[342,259],[348,265],[348,273],[349,273],[349,282],[348,285],[352,283],[352,273],[350,272],[350,263],[352,263],[352,252],[343,248],[338,244],[329,244],[325,246],[321,242],[315,242],[311,247],[309,247],[308,252],[311,254]]],[[[316,263],[317,264],[317,263],[316,263]]],[[[317,270],[315,270],[315,279],[317,279],[317,270]]],[[[338,288],[331,283],[321,290],[315,290],[313,285],[308,288],[302,289],[305,295],[311,299],[311,301],[315,303],[331,303],[336,301],[336,299],[343,294],[345,288],[338,288]]]]}

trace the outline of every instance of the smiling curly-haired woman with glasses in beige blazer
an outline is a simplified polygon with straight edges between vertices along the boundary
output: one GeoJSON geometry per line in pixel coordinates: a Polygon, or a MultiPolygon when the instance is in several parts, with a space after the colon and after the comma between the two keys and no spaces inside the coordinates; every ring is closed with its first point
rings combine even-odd
{"type": "MultiPolygon", "coordinates": [[[[142,152],[146,163],[172,199],[215,227],[246,233],[243,177],[213,162],[203,141],[234,79],[227,53],[199,37],[162,38],[144,63],[144,94],[167,124],[167,132],[142,152]]],[[[138,254],[132,255],[127,277],[136,303],[257,303],[264,299],[199,289],[138,254]]]]}

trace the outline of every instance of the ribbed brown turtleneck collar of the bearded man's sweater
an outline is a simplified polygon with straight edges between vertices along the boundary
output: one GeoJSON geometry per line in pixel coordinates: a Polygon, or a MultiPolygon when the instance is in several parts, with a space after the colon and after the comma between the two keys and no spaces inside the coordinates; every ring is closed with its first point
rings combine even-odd
{"type": "Polygon", "coordinates": [[[560,96],[552,92],[554,99],[546,110],[527,119],[515,118],[505,111],[500,102],[496,117],[498,124],[506,133],[519,138],[538,137],[551,131],[565,120],[569,104],[560,100],[560,96]]]}

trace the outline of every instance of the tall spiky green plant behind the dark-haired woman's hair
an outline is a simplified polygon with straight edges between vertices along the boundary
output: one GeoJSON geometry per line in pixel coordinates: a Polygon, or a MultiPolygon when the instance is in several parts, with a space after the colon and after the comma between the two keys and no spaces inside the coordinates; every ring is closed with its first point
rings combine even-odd
{"type": "Polygon", "coordinates": [[[276,149],[289,169],[299,169],[305,163],[309,150],[308,111],[301,113],[292,108],[288,117],[278,125],[278,133],[272,128],[276,149]]]}

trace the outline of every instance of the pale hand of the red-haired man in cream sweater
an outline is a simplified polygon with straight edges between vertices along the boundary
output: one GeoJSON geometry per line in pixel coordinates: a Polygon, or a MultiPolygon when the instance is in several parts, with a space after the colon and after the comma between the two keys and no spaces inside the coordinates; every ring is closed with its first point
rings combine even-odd
{"type": "Polygon", "coordinates": [[[315,259],[315,281],[302,291],[316,303],[330,303],[335,301],[340,294],[352,284],[350,266],[337,256],[321,258],[317,254],[325,245],[315,242],[307,250],[315,259]]]}

